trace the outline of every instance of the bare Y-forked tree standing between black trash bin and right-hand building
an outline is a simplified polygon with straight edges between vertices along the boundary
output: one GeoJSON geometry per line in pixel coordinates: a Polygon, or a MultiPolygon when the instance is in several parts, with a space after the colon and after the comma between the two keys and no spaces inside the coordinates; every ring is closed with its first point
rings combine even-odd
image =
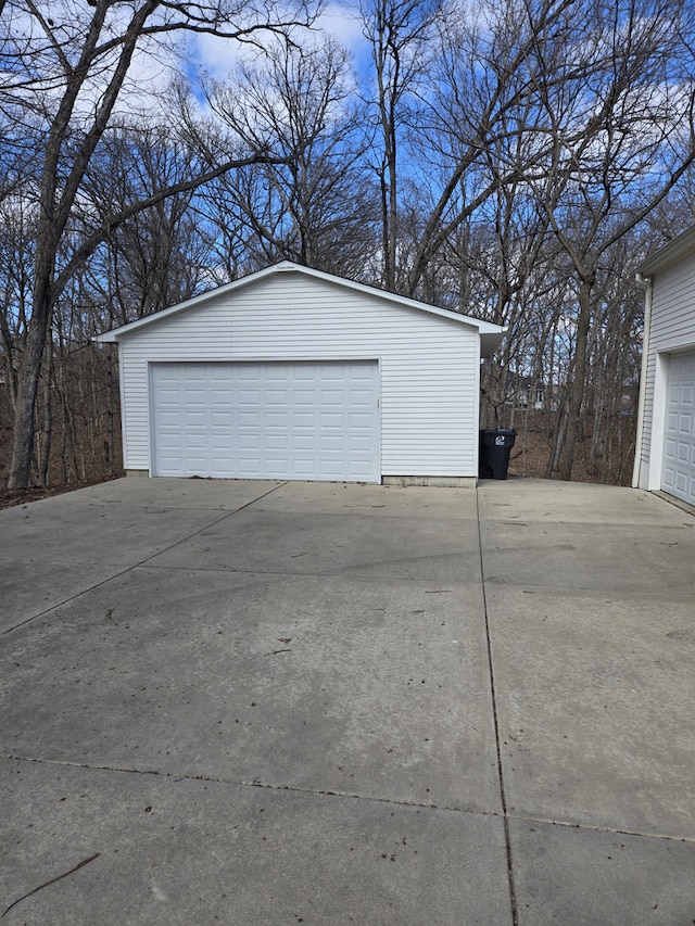
{"type": "Polygon", "coordinates": [[[563,479],[574,462],[602,261],[695,158],[693,16],[686,2],[602,3],[569,35],[585,56],[582,68],[554,60],[551,73],[563,79],[552,86],[538,73],[552,145],[542,173],[527,177],[578,281],[566,427],[556,431],[563,479]]]}

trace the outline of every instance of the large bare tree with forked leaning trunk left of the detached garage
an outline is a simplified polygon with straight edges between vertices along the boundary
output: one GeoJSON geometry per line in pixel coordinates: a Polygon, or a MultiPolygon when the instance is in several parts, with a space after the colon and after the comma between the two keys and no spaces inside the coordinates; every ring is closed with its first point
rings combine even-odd
{"type": "Polygon", "coordinates": [[[142,208],[194,189],[226,170],[273,157],[267,151],[227,154],[208,164],[204,173],[162,187],[101,221],[86,221],[88,217],[83,216],[75,224],[85,176],[113,123],[136,53],[152,50],[155,42],[177,34],[205,33],[257,41],[268,30],[308,22],[306,9],[287,17],[269,17],[266,4],[254,7],[241,0],[144,0],[136,7],[119,0],[93,0],[80,12],[84,16],[75,17],[72,4],[55,4],[48,14],[35,0],[10,0],[0,24],[5,28],[9,22],[14,28],[0,37],[5,60],[12,62],[12,86],[8,84],[0,94],[5,136],[10,147],[18,149],[29,123],[42,134],[31,315],[17,372],[10,487],[29,482],[37,389],[51,314],[77,269],[115,228],[142,208]],[[72,246],[65,249],[68,229],[72,246]]]}

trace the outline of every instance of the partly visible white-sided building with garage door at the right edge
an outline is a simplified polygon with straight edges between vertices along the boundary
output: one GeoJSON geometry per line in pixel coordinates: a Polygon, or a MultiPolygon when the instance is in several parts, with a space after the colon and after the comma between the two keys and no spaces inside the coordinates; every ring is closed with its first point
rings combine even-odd
{"type": "Polygon", "coordinates": [[[632,484],[695,505],[695,227],[637,270],[647,290],[632,484]]]}

